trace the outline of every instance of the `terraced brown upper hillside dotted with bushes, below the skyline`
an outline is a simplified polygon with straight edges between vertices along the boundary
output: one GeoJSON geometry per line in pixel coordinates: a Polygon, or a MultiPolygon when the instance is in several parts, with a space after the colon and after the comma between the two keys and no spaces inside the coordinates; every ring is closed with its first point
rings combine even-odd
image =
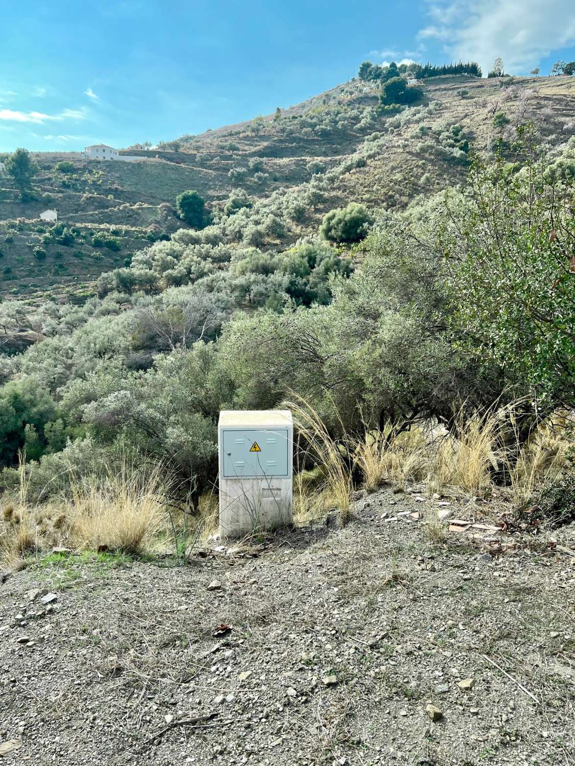
{"type": "MultiPolygon", "coordinates": [[[[238,191],[255,201],[275,192],[279,207],[289,195],[292,201],[304,198],[313,188],[312,205],[284,231],[283,243],[289,244],[316,231],[327,211],[349,201],[401,210],[417,195],[464,181],[468,152],[484,152],[504,132],[494,128],[494,113],[503,112],[510,127],[534,119],[548,146],[575,130],[573,77],[437,77],[426,80],[423,90],[421,103],[382,116],[376,111],[379,90],[353,80],[276,115],[176,139],[178,151],[136,152],[142,162],[76,162],[73,175],[44,162],[35,179],[44,198],[26,205],[4,178],[0,295],[38,300],[48,291],[60,300],[84,300],[100,273],[185,226],[172,206],[186,188],[199,191],[216,215],[238,191]],[[46,207],[77,227],[77,242],[49,246],[45,260],[38,260],[33,251],[49,226],[35,219],[46,207]],[[119,250],[91,246],[94,232],[110,229],[119,250]]],[[[261,244],[275,247],[277,241],[261,244]]]]}

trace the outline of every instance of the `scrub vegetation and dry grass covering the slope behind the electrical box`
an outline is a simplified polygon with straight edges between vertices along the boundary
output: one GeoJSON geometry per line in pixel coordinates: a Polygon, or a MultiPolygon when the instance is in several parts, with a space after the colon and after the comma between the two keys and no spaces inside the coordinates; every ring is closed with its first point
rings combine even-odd
{"type": "Polygon", "coordinates": [[[186,184],[174,207],[157,187],[97,224],[81,211],[0,223],[5,284],[11,264],[29,268],[14,255],[26,237],[37,274],[94,264],[84,291],[0,302],[6,552],[153,547],[162,526],[177,540],[169,509],[199,529],[213,519],[218,412],[285,401],[300,420],[302,518],[314,506],[345,520],[357,487],[412,481],[507,487],[517,513],[557,506],[572,476],[575,123],[550,133],[543,80],[511,90],[457,66],[422,67],[408,104],[402,72],[362,64],[321,99],[159,147],[182,165],[48,171],[13,155],[21,206],[48,172],[60,189],[107,191],[110,174],[136,188],[143,167],[186,184]],[[202,178],[224,166],[228,188],[212,193],[202,178]],[[106,220],[123,212],[137,223],[106,220]],[[50,534],[33,532],[42,520],[50,534]]]}

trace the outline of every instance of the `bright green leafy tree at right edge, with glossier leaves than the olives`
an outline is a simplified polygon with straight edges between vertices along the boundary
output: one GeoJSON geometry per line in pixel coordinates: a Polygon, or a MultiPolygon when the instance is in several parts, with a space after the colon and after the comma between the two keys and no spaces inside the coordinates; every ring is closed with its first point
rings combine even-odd
{"type": "Polygon", "coordinates": [[[575,404],[575,219],[572,175],[535,162],[533,129],[519,129],[524,167],[475,159],[468,192],[449,205],[439,245],[452,267],[452,325],[508,385],[550,407],[575,404]],[[511,214],[512,211],[512,214],[511,214]]]}

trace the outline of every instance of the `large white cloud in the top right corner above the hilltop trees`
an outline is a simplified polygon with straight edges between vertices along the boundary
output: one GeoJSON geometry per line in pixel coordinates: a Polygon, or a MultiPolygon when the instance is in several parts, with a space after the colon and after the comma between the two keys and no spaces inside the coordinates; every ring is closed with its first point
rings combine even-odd
{"type": "Polygon", "coordinates": [[[505,71],[525,72],[575,41],[573,0],[429,0],[432,24],[418,38],[435,38],[452,60],[478,61],[487,74],[496,57],[505,71]]]}

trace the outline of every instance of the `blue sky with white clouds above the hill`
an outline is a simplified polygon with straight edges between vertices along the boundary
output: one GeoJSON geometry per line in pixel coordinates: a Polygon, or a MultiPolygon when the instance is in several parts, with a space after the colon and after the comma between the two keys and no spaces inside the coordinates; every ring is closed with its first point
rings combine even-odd
{"type": "Polygon", "coordinates": [[[349,80],[361,61],[575,60],[573,0],[3,3],[0,151],[201,133],[349,80]]]}

